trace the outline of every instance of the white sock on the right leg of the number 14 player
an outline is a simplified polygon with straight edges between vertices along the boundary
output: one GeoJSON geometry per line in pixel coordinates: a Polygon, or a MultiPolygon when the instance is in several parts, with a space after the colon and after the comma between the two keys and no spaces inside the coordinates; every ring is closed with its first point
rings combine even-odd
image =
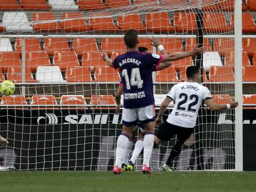
{"type": "Polygon", "coordinates": [[[149,167],[150,157],[154,145],[154,134],[152,132],[145,133],[144,136],[144,154],[143,154],[143,165],[149,167]]]}

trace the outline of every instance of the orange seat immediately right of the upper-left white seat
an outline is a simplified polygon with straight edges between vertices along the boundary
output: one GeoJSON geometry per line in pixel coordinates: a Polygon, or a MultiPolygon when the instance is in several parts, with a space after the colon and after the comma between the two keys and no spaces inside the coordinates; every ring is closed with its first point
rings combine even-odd
{"type": "MultiPolygon", "coordinates": [[[[32,22],[43,22],[46,20],[56,20],[56,17],[53,12],[34,12],[32,14],[32,22]]],[[[59,31],[58,22],[49,22],[49,23],[35,23],[32,24],[34,31],[59,31]]]]}

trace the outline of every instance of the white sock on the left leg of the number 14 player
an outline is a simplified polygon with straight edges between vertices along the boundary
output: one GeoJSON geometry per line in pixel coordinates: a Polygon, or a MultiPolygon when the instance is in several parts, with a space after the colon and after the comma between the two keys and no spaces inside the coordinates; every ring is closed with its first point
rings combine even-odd
{"type": "Polygon", "coordinates": [[[116,143],[116,161],[114,165],[117,165],[118,167],[121,167],[122,164],[122,158],[124,157],[124,154],[126,153],[126,150],[129,146],[129,136],[121,133],[117,139],[116,143]]]}

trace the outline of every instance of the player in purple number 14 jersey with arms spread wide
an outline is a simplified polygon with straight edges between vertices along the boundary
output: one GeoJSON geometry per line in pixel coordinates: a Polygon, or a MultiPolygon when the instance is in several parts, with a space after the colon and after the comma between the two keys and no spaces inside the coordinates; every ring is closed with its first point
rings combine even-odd
{"type": "Polygon", "coordinates": [[[166,56],[158,54],[142,54],[138,51],[139,40],[135,30],[129,30],[124,36],[127,52],[114,59],[109,59],[105,52],[102,58],[114,69],[121,69],[124,81],[124,108],[122,110],[122,133],[117,139],[114,174],[121,173],[122,158],[128,148],[129,136],[134,125],[140,122],[145,130],[143,151],[143,173],[151,173],[149,167],[154,145],[155,99],[153,96],[152,65],[156,69],[161,62],[175,61],[197,54],[203,54],[205,48],[195,48],[188,52],[176,52],[166,56]]]}

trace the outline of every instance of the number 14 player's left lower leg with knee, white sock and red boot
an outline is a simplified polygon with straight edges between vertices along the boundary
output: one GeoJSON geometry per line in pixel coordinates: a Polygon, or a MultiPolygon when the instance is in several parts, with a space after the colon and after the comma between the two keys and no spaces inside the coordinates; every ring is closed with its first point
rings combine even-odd
{"type": "Polygon", "coordinates": [[[116,161],[114,163],[113,167],[113,173],[114,174],[120,174],[121,173],[121,164],[122,164],[122,158],[124,157],[124,154],[126,150],[129,148],[129,138],[132,134],[132,128],[127,127],[126,125],[123,125],[122,127],[122,133],[119,135],[116,143],[116,161]]]}

